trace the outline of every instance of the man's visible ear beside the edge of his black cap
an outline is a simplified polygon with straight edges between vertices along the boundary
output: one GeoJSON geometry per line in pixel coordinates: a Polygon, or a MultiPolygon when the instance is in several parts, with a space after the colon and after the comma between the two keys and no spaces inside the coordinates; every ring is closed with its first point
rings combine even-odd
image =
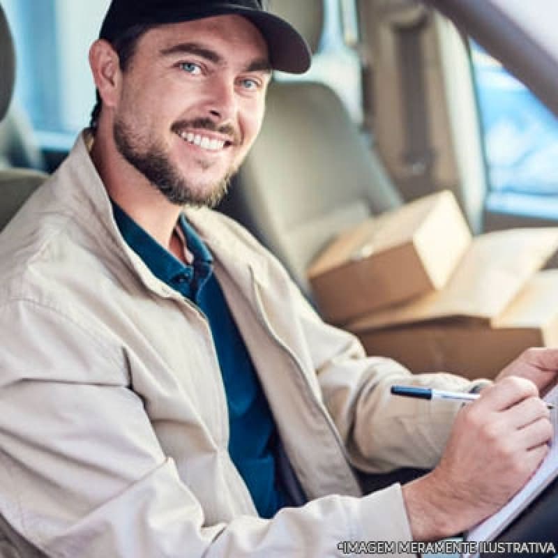
{"type": "Polygon", "coordinates": [[[119,56],[108,41],[98,39],[91,45],[89,66],[103,105],[114,107],[120,95],[121,70],[119,56]]]}

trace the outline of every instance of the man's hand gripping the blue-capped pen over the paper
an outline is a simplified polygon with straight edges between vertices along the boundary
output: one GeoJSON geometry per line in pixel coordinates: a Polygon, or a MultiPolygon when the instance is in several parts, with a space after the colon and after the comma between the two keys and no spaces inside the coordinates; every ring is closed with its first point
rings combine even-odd
{"type": "MultiPolygon", "coordinates": [[[[524,353],[481,398],[465,405],[436,469],[403,486],[414,540],[476,525],[504,506],[541,464],[552,437],[550,413],[536,385],[514,372],[532,374],[546,386],[542,370],[558,363],[558,351],[544,353],[524,353]]],[[[554,375],[548,377],[550,384],[554,375]]]]}

